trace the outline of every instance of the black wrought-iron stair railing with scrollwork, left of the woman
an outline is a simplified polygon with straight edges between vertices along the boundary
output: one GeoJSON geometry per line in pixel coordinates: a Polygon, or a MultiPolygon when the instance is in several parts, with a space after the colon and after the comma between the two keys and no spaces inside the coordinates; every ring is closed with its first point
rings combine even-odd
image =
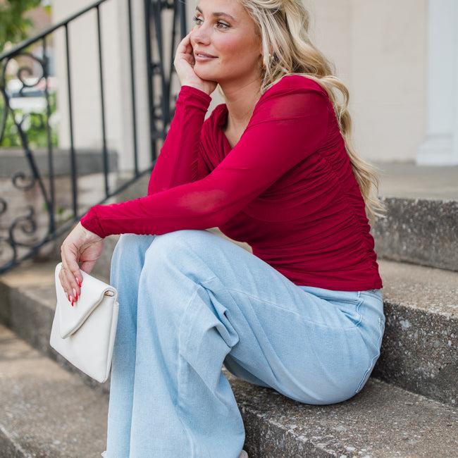
{"type": "MultiPolygon", "coordinates": [[[[69,37],[69,25],[87,14],[89,11],[95,11],[97,15],[97,43],[94,46],[97,47],[98,52],[98,74],[99,78],[94,84],[99,85],[100,97],[98,103],[100,104],[100,116],[101,116],[101,157],[102,157],[102,172],[104,179],[104,192],[103,197],[98,202],[92,202],[91,205],[102,204],[107,199],[113,197],[125,190],[126,187],[131,185],[133,182],[141,178],[147,173],[151,173],[154,163],[157,159],[157,142],[163,140],[166,136],[166,128],[170,124],[171,118],[173,117],[173,109],[176,100],[176,94],[174,97],[171,96],[171,80],[173,78],[173,52],[175,50],[175,34],[176,28],[180,27],[180,37],[186,35],[186,20],[185,20],[185,2],[178,1],[157,1],[157,0],[144,0],[144,18],[145,18],[145,40],[146,40],[146,58],[147,58],[147,81],[148,81],[148,102],[149,102],[149,129],[151,132],[151,163],[144,170],[139,168],[138,158],[138,147],[137,147],[137,120],[136,120],[136,106],[135,106],[135,54],[134,54],[134,40],[132,36],[133,24],[132,24],[132,4],[131,0],[119,0],[126,1],[128,9],[128,37],[129,37],[129,49],[130,49],[130,103],[132,106],[132,151],[133,151],[133,171],[132,178],[123,182],[122,185],[116,185],[116,188],[110,187],[109,185],[109,151],[106,143],[106,113],[105,113],[105,88],[104,88],[104,72],[102,61],[104,57],[104,48],[101,40],[101,4],[104,4],[111,0],[99,0],[93,4],[82,9],[78,13],[62,20],[60,23],[49,27],[47,30],[39,33],[35,37],[21,42],[11,50],[0,54],[0,102],[3,101],[3,115],[0,119],[0,145],[4,138],[6,120],[8,116],[13,120],[13,125],[16,127],[16,132],[20,138],[20,150],[21,154],[26,160],[26,170],[20,170],[13,173],[9,178],[10,191],[0,193],[0,273],[8,271],[8,269],[16,266],[24,259],[30,258],[39,252],[39,249],[44,244],[55,240],[63,233],[66,233],[73,224],[78,221],[81,216],[87,211],[83,211],[79,204],[79,190],[78,190],[78,169],[77,169],[77,154],[75,154],[75,133],[74,133],[74,112],[73,112],[73,97],[72,97],[72,81],[71,81],[71,70],[72,70],[72,59],[70,55],[70,37],[69,37]],[[165,59],[165,49],[163,47],[163,11],[173,10],[173,23],[171,24],[172,33],[172,49],[170,50],[170,62],[169,68],[164,68],[163,63],[165,59]],[[47,47],[49,46],[49,37],[54,34],[57,30],[63,30],[65,51],[66,51],[66,91],[68,100],[68,128],[69,128],[69,159],[70,166],[68,175],[70,177],[70,190],[68,190],[70,196],[69,201],[71,202],[71,213],[66,221],[56,220],[56,176],[54,173],[54,159],[56,154],[54,149],[56,145],[51,142],[51,128],[49,125],[49,118],[51,116],[50,109],[50,94],[48,89],[49,80],[49,58],[47,57],[47,47]],[[28,48],[35,44],[42,44],[42,55],[37,56],[28,51],[28,48]],[[153,49],[158,49],[158,56],[153,56],[153,49]],[[42,126],[47,132],[47,171],[46,176],[40,171],[37,166],[35,151],[32,151],[30,141],[27,136],[27,131],[23,128],[27,114],[22,117],[18,117],[18,113],[15,113],[15,109],[11,104],[11,97],[7,90],[6,75],[8,66],[11,61],[20,58],[28,57],[39,67],[39,75],[35,77],[35,80],[31,83],[23,76],[24,73],[32,75],[32,68],[30,66],[23,66],[17,70],[17,78],[21,82],[20,90],[18,95],[21,96],[27,91],[33,89],[33,87],[43,86],[42,97],[45,100],[45,113],[42,115],[42,126]],[[161,81],[161,93],[154,94],[154,79],[160,78],[161,81]],[[44,85],[42,84],[44,82],[44,85]],[[157,97],[155,97],[157,96],[157,97]],[[156,102],[156,100],[159,100],[156,102]],[[171,104],[173,105],[171,107],[171,104]],[[18,209],[14,205],[14,198],[11,198],[11,190],[13,192],[27,192],[37,188],[40,197],[43,199],[44,209],[39,212],[32,205],[27,205],[26,209],[18,209]],[[4,195],[2,195],[4,194],[4,195]],[[8,216],[8,223],[2,222],[2,219],[6,219],[8,216]],[[43,220],[46,216],[46,228],[44,233],[38,235],[37,228],[39,226],[38,221],[43,220]]],[[[180,38],[181,39],[181,38],[180,38]]],[[[36,73],[36,72],[35,72],[36,73]]],[[[94,101],[95,103],[95,101],[94,101]]],[[[0,113],[1,114],[1,113],[0,113]]],[[[11,121],[10,121],[11,122],[11,121]]],[[[0,146],[0,157],[1,157],[1,146],[0,146]]],[[[1,191],[1,189],[0,189],[1,191]]]]}

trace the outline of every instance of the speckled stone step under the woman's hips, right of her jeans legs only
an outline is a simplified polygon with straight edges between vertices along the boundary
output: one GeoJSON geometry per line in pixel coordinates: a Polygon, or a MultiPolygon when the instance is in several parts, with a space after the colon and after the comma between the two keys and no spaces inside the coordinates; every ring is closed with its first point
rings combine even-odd
{"type": "MultiPolygon", "coordinates": [[[[232,375],[228,378],[247,431],[263,431],[263,427],[264,431],[271,430],[271,443],[261,442],[262,449],[255,450],[254,456],[328,454],[369,458],[456,454],[457,409],[376,378],[369,378],[351,399],[324,406],[300,404],[269,388],[255,387],[232,375]],[[251,426],[253,422],[256,424],[251,426]],[[278,444],[278,452],[271,452],[272,442],[278,444]]],[[[245,448],[252,450],[249,442],[245,448]]]]}

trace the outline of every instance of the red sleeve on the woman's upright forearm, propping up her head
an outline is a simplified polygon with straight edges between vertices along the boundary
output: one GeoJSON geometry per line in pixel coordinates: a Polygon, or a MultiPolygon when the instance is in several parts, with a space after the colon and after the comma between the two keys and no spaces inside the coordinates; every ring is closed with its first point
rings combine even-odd
{"type": "Polygon", "coordinates": [[[148,195],[197,180],[200,135],[211,97],[195,87],[183,85],[178,93],[175,113],[151,171],[148,195]]]}

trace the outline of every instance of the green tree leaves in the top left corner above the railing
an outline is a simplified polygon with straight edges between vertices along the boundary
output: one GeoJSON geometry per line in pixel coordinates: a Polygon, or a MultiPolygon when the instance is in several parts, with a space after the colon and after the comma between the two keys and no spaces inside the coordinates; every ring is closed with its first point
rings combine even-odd
{"type": "Polygon", "coordinates": [[[17,43],[27,38],[27,29],[33,26],[23,15],[39,6],[41,0],[6,0],[0,4],[0,52],[6,43],[17,43]]]}

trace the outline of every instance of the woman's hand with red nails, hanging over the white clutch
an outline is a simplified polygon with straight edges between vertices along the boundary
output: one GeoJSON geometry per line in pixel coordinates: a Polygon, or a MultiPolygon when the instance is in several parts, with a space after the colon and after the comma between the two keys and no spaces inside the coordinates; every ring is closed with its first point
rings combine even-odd
{"type": "Polygon", "coordinates": [[[82,275],[78,263],[82,263],[82,271],[90,273],[103,248],[104,239],[84,228],[81,223],[78,223],[63,241],[61,245],[63,268],[58,277],[72,306],[81,293],[82,275]]]}

